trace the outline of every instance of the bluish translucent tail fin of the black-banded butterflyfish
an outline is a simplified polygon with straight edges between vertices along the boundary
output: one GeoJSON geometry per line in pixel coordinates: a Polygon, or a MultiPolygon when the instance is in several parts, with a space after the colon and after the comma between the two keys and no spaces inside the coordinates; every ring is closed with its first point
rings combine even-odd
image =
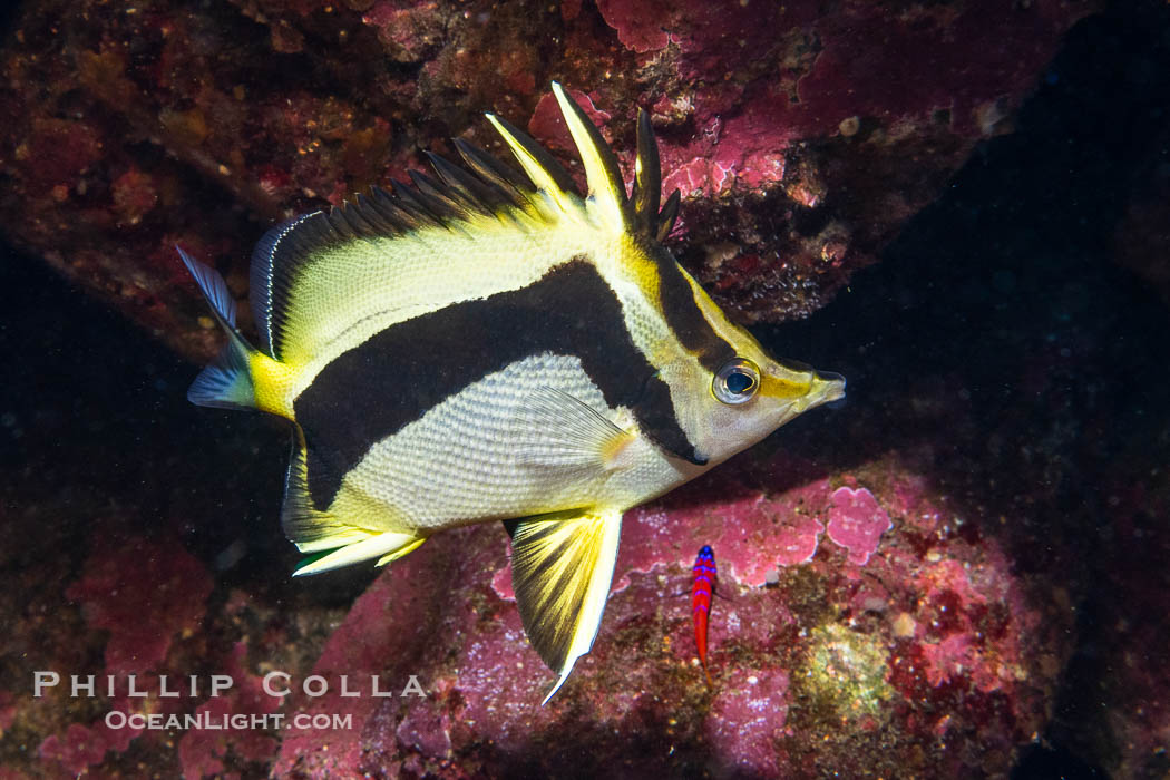
{"type": "Polygon", "coordinates": [[[187,400],[198,406],[254,409],[256,388],[248,368],[248,356],[254,350],[235,327],[235,301],[227,289],[227,283],[214,268],[200,263],[179,247],[176,249],[179,250],[179,256],[191,271],[199,290],[207,298],[215,322],[228,336],[223,351],[192,382],[191,389],[187,391],[187,400]]]}

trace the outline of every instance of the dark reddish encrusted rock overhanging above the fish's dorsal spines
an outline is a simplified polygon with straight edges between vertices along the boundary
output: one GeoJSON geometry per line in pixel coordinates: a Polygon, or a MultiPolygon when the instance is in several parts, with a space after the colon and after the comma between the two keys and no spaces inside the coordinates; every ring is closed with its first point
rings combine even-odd
{"type": "Polygon", "coordinates": [[[483,111],[563,149],[556,78],[627,170],[636,108],[652,111],[683,195],[673,244],[722,304],[800,317],[1010,129],[1092,7],[34,0],[0,55],[0,229],[206,358],[218,336],[176,243],[242,298],[267,227],[422,167],[452,136],[498,151],[483,111]]]}

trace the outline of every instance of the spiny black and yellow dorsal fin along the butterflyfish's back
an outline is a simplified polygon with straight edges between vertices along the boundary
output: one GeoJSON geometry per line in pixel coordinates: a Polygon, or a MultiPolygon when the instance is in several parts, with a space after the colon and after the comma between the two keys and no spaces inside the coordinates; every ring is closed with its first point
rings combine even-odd
{"type": "MultiPolygon", "coordinates": [[[[428,229],[447,233],[457,228],[457,232],[476,235],[484,227],[480,221],[483,218],[491,218],[495,229],[525,232],[556,226],[566,216],[576,220],[593,214],[594,223],[613,230],[635,232],[652,239],[662,235],[663,228],[669,232],[677,194],[659,214],[661,177],[646,113],[639,117],[638,168],[631,202],[626,198],[618,159],[601,133],[560,84],[553,83],[552,90],[584,165],[589,201],[581,199],[572,177],[548,150],[507,120],[488,115],[523,173],[456,139],[455,147],[470,171],[432,154],[438,179],[411,172],[411,184],[392,181],[388,192],[374,187],[369,196],[359,195],[328,212],[298,216],[264,235],[253,251],[250,275],[253,315],[264,352],[277,360],[288,357],[283,336],[290,323],[300,323],[309,311],[290,313],[292,290],[304,268],[315,260],[335,256],[331,262],[339,262],[337,257],[353,257],[351,249],[342,244],[364,244],[359,251],[365,253],[366,260],[362,262],[370,272],[377,274],[380,253],[386,250],[374,250],[373,243],[413,236],[425,244],[422,236],[428,229]]],[[[401,254],[402,257],[410,255],[410,251],[401,254]]],[[[322,299],[314,305],[332,304],[322,299]]],[[[310,347],[298,346],[297,351],[304,358],[304,350],[310,347]]]]}

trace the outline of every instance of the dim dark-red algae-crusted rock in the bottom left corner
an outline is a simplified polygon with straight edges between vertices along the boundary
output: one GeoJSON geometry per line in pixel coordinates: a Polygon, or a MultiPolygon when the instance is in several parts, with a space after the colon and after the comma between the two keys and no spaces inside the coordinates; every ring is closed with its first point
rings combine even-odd
{"type": "Polygon", "coordinates": [[[289,623],[316,619],[289,621],[253,603],[255,593],[216,588],[170,533],[145,538],[112,520],[97,529],[68,586],[55,589],[57,561],[33,570],[50,575],[47,587],[27,594],[29,612],[9,626],[0,778],[257,776],[276,757],[280,727],[268,718],[283,706],[263,676],[309,668],[292,640],[310,651],[319,643],[289,623]],[[212,675],[230,681],[218,695],[212,675]]]}

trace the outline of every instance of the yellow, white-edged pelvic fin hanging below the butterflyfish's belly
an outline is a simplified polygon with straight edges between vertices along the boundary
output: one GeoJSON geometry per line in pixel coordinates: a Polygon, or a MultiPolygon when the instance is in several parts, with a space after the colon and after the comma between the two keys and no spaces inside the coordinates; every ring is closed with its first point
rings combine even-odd
{"type": "Polygon", "coordinates": [[[621,536],[620,511],[558,512],[508,520],[512,589],[528,640],[564,684],[593,647],[610,595],[621,536]]]}

